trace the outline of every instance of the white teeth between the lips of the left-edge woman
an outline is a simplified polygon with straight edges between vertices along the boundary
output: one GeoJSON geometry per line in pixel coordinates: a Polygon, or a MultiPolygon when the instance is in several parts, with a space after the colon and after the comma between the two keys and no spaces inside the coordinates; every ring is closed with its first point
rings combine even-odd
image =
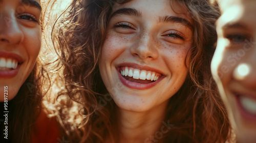
{"type": "Polygon", "coordinates": [[[11,58],[0,58],[0,70],[12,70],[16,69],[18,61],[11,58]]]}

